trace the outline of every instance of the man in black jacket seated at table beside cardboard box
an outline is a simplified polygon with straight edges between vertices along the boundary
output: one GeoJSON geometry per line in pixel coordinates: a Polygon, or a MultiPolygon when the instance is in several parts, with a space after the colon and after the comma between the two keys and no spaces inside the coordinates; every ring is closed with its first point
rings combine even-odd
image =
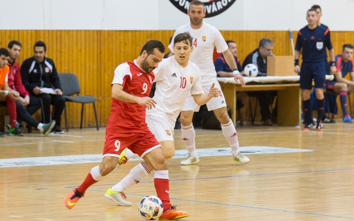
{"type": "MultiPolygon", "coordinates": [[[[254,64],[258,67],[257,76],[266,76],[266,58],[267,56],[274,56],[272,53],[273,46],[274,43],[270,39],[262,38],[259,48],[247,55],[243,61],[242,67],[244,68],[247,64],[254,64]]],[[[277,107],[274,108],[273,113],[270,113],[269,106],[273,104],[277,91],[250,91],[248,92],[248,95],[258,98],[261,107],[263,125],[271,126],[273,121],[275,123],[277,107]]]]}

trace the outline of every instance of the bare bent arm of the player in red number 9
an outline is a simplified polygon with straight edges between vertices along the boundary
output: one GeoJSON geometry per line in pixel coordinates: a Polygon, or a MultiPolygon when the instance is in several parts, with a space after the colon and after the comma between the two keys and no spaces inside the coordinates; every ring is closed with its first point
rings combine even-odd
{"type": "Polygon", "coordinates": [[[123,91],[123,86],[115,83],[112,86],[112,97],[119,101],[128,102],[128,103],[136,103],[141,106],[146,106],[148,109],[152,109],[155,107],[156,101],[149,97],[137,97],[131,94],[128,94],[123,91]]]}

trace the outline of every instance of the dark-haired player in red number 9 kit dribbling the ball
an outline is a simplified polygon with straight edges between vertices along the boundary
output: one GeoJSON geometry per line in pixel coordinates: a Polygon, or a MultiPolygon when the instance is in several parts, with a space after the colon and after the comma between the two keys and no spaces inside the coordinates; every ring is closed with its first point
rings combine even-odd
{"type": "MultiPolygon", "coordinates": [[[[165,46],[160,41],[150,40],[143,46],[137,59],[124,62],[116,68],[102,163],[93,167],[85,181],[65,197],[65,206],[68,209],[74,207],[91,185],[116,168],[119,154],[129,147],[155,169],[155,189],[163,203],[164,213],[189,216],[189,213],[178,211],[170,203],[168,164],[162,154],[161,145],[145,122],[146,108],[154,108],[156,104],[148,97],[155,78],[152,71],[157,68],[164,52],[165,46]]],[[[123,192],[117,194],[125,198],[123,192]]]]}

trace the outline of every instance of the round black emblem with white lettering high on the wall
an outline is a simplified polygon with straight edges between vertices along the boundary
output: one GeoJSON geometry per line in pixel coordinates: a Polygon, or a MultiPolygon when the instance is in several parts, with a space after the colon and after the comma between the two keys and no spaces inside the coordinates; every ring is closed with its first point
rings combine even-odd
{"type": "MultiPolygon", "coordinates": [[[[187,14],[192,0],[170,0],[181,12],[187,14]]],[[[236,0],[201,0],[204,2],[207,12],[206,18],[214,17],[226,11],[236,0]]]]}

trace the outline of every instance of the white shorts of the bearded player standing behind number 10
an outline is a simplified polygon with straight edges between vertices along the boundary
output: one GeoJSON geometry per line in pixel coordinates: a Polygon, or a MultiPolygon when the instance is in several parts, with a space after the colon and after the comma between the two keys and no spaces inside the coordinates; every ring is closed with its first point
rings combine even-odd
{"type": "MultiPolygon", "coordinates": [[[[206,86],[202,86],[204,93],[209,93],[209,89],[211,87],[212,83],[210,85],[206,85],[206,86]]],[[[224,94],[221,90],[220,84],[219,82],[215,82],[215,86],[219,88],[219,96],[218,97],[213,97],[210,99],[209,102],[207,102],[207,109],[208,111],[213,111],[216,109],[220,109],[222,107],[226,107],[226,101],[225,101],[225,97],[224,94]]],[[[192,95],[188,94],[188,97],[186,99],[186,101],[184,102],[184,105],[182,107],[181,111],[194,111],[194,112],[198,112],[200,109],[200,106],[198,106],[195,102],[194,99],[192,97],[192,95]]]]}

